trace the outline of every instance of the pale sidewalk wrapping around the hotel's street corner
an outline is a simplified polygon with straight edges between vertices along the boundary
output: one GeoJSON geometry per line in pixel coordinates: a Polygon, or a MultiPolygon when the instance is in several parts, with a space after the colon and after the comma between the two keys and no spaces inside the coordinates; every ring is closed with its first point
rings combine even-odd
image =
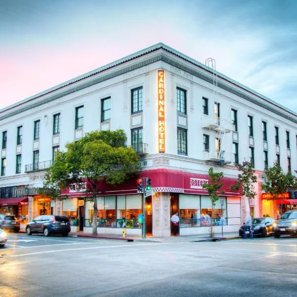
{"type": "Polygon", "coordinates": [[[171,237],[151,237],[147,236],[146,239],[141,238],[137,235],[129,235],[127,238],[123,238],[116,234],[99,234],[93,236],[92,234],[86,234],[82,232],[71,232],[69,236],[73,237],[84,237],[84,238],[98,238],[98,239],[110,239],[110,240],[123,240],[128,242],[155,242],[155,243],[179,243],[179,242],[215,242],[228,239],[240,238],[237,232],[228,232],[222,234],[215,234],[213,238],[210,238],[207,234],[203,235],[188,235],[188,236],[171,236],[171,237]]]}

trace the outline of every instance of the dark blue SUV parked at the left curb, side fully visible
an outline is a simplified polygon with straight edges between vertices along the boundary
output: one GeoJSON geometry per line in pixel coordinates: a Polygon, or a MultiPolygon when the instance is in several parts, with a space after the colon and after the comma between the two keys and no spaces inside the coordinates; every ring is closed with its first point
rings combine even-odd
{"type": "Polygon", "coordinates": [[[49,236],[50,234],[67,236],[69,232],[69,219],[66,216],[60,215],[40,215],[26,226],[27,235],[43,233],[44,236],[49,236]]]}

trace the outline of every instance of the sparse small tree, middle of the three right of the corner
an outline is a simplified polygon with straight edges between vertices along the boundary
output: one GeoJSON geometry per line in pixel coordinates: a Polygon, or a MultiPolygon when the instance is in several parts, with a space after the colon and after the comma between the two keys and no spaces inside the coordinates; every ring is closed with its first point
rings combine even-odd
{"type": "Polygon", "coordinates": [[[242,196],[253,199],[256,195],[253,184],[257,181],[257,177],[254,175],[255,170],[253,169],[253,163],[243,161],[242,164],[237,164],[236,167],[241,173],[238,175],[238,180],[235,185],[229,187],[230,190],[240,191],[242,196]]]}

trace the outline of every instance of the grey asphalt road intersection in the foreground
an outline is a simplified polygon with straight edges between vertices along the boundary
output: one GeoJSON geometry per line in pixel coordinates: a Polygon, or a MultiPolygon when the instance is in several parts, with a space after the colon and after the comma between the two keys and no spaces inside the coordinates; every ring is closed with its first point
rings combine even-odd
{"type": "Polygon", "coordinates": [[[9,234],[0,297],[297,296],[297,238],[180,240],[9,234]]]}

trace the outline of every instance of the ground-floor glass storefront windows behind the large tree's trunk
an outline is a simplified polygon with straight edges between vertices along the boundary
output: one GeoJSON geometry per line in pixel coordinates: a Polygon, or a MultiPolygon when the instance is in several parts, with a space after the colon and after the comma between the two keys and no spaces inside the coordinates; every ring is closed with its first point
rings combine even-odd
{"type": "MultiPolygon", "coordinates": [[[[85,227],[93,227],[93,201],[85,202],[85,227]]],[[[98,196],[97,226],[141,228],[142,195],[98,196]]]]}

